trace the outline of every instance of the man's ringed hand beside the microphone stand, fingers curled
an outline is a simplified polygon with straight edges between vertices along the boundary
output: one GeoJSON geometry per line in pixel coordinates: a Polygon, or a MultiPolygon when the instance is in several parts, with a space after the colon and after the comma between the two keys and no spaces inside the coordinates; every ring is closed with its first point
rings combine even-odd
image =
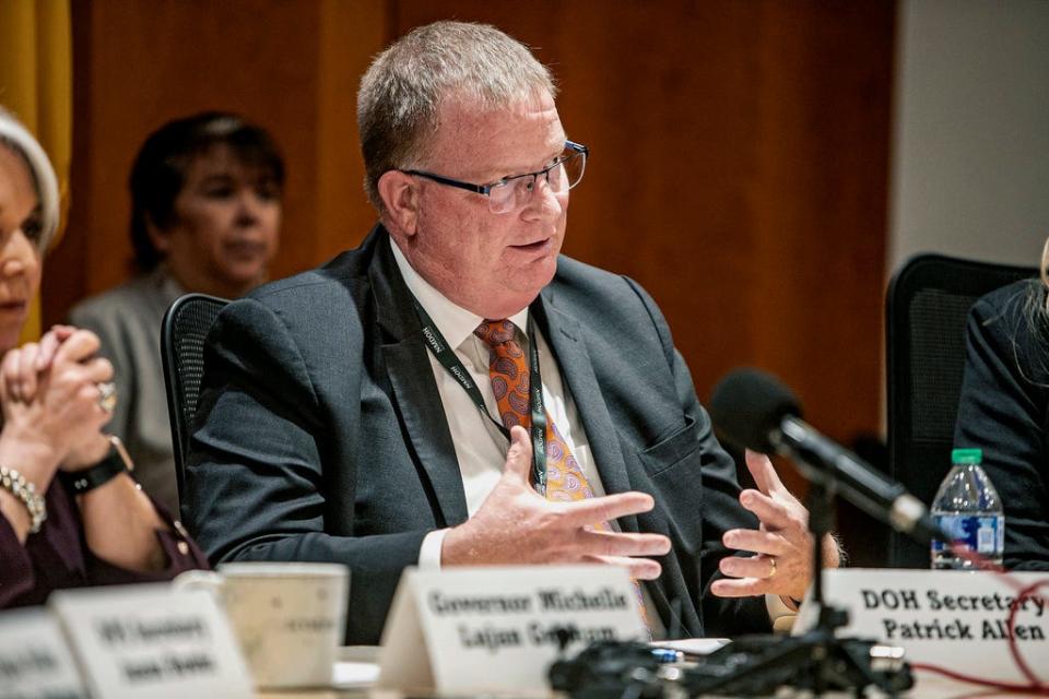
{"type": "MultiPolygon", "coordinates": [[[[711,592],[721,597],[778,594],[801,600],[812,582],[809,510],[783,486],[768,457],[747,451],[746,467],[758,489],[743,490],[740,502],[757,516],[761,528],[730,530],[722,542],[756,555],[722,558],[721,572],[730,579],[716,580],[711,592]]],[[[823,542],[823,561],[828,568],[840,562],[830,536],[823,542]]]]}

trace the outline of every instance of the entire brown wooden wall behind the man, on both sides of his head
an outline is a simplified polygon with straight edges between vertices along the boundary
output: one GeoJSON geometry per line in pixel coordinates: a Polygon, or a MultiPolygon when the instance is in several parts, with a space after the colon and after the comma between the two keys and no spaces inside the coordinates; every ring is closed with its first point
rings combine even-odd
{"type": "Polygon", "coordinates": [[[700,398],[757,365],[833,437],[874,433],[894,15],[884,0],[74,3],[73,209],[45,318],[125,279],[131,158],[189,111],[240,111],[283,146],[278,275],[355,245],[374,220],[354,109],[369,58],[424,22],[486,21],[537,47],[593,150],[565,251],[648,288],[700,398]]]}

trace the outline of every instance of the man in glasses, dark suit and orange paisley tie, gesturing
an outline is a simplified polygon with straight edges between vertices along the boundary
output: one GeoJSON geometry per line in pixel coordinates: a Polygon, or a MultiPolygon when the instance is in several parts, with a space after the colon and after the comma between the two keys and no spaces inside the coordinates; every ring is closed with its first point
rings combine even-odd
{"type": "Polygon", "coordinates": [[[381,223],[209,340],[186,519],[213,560],[349,565],[351,643],[413,565],[624,566],[692,636],[808,585],[804,508],[763,457],[741,494],[651,298],[559,256],[587,149],[553,95],[493,27],[399,39],[358,94],[381,223]]]}

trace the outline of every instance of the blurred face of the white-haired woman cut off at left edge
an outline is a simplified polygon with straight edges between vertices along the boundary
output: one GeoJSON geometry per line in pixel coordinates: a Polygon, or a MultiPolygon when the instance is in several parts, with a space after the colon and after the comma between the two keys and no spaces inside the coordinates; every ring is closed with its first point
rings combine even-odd
{"type": "Polygon", "coordinates": [[[39,199],[25,162],[0,144],[0,353],[14,347],[40,287],[39,199]]]}

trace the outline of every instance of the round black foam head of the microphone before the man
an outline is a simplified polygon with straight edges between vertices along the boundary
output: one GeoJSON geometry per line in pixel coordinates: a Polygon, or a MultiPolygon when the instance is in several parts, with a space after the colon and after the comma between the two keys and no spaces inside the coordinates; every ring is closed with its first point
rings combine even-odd
{"type": "Polygon", "coordinates": [[[771,436],[787,416],[801,417],[798,399],[771,374],[734,369],[714,387],[710,416],[729,441],[762,453],[774,453],[771,436]]]}

